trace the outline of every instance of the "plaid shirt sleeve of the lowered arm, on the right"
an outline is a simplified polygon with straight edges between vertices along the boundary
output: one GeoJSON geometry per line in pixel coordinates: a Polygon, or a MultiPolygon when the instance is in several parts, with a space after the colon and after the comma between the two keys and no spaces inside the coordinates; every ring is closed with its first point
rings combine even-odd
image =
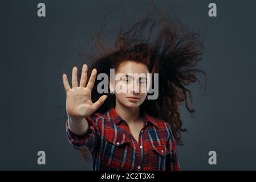
{"type": "Polygon", "coordinates": [[[178,154],[177,154],[177,142],[173,137],[172,130],[168,125],[168,154],[166,156],[166,171],[180,171],[180,164],[178,163],[178,154]]]}

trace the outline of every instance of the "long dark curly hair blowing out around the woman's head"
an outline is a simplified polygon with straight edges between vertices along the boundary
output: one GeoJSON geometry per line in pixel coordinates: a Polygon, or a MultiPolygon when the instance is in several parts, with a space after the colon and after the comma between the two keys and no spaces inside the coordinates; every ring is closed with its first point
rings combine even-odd
{"type": "MultiPolygon", "coordinates": [[[[155,6],[153,10],[155,13],[158,12],[155,6]]],[[[87,61],[88,74],[96,68],[98,74],[105,73],[109,76],[109,69],[117,69],[127,60],[147,65],[152,75],[159,73],[159,97],[156,100],[145,100],[141,107],[152,117],[168,122],[177,143],[182,145],[181,132],[186,129],[182,127],[179,106],[185,103],[192,116],[195,110],[188,85],[200,82],[197,73],[205,75],[206,85],[206,73],[196,68],[204,52],[204,39],[201,38],[201,34],[190,31],[180,20],[166,18],[162,13],[158,14],[157,19],[154,17],[155,13],[148,13],[126,31],[123,31],[124,27],[121,26],[113,46],[109,46],[107,41],[101,41],[104,30],[102,27],[94,35],[97,52],[82,55],[90,60],[87,61]]],[[[81,73],[78,77],[80,79],[81,73]]],[[[102,95],[97,93],[96,89],[99,82],[96,80],[92,89],[93,102],[102,95]]],[[[110,107],[115,107],[115,95],[111,94],[95,112],[105,113],[110,107]]]]}

